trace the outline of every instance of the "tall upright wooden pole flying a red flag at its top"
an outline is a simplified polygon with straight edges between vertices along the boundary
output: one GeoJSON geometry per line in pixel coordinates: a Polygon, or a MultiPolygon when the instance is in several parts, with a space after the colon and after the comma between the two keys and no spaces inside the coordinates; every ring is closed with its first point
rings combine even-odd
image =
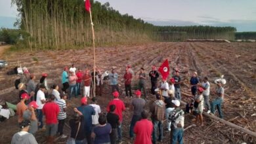
{"type": "Polygon", "coordinates": [[[92,33],[93,33],[93,97],[95,97],[95,61],[96,61],[96,57],[95,57],[95,28],[93,27],[93,18],[91,16],[91,8],[89,10],[89,13],[90,13],[90,19],[91,19],[91,30],[92,30],[92,33]]]}

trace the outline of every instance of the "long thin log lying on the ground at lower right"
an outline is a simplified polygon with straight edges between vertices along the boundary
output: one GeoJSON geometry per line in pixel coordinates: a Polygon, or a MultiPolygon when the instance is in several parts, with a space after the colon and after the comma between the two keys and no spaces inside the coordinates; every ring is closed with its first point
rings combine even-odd
{"type": "MultiPolygon", "coordinates": [[[[182,92],[182,94],[184,94],[184,93],[182,92]]],[[[184,95],[188,96],[188,94],[184,94],[184,95]]],[[[181,103],[186,105],[186,103],[184,101],[181,101],[181,103]]],[[[240,130],[242,132],[245,132],[246,134],[249,134],[251,136],[256,137],[256,133],[255,132],[252,132],[250,130],[247,130],[246,128],[243,128],[241,126],[233,124],[232,122],[228,122],[228,121],[224,120],[223,118],[216,117],[215,115],[209,115],[209,114],[207,114],[205,112],[203,112],[203,115],[205,115],[205,116],[207,116],[209,118],[213,118],[214,120],[217,120],[217,121],[219,121],[219,122],[221,122],[223,124],[226,124],[227,126],[230,126],[231,128],[236,128],[237,130],[240,130]]]]}

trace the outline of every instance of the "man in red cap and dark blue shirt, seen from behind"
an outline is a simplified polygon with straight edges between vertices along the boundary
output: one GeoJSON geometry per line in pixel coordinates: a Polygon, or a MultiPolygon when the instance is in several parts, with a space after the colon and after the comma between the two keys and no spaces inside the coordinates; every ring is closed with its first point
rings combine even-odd
{"type": "Polygon", "coordinates": [[[83,114],[84,118],[84,130],[85,130],[85,137],[87,139],[87,143],[91,144],[91,132],[93,128],[93,120],[92,116],[95,115],[95,109],[91,105],[87,105],[87,98],[81,98],[81,106],[77,107],[78,111],[83,114]]]}

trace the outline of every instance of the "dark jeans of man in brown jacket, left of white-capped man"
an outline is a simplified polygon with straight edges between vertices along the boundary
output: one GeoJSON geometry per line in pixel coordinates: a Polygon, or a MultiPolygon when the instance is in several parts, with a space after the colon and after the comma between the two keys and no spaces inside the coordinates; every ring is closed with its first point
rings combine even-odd
{"type": "Polygon", "coordinates": [[[153,127],[154,127],[153,134],[152,134],[153,144],[156,144],[156,137],[158,132],[159,132],[158,140],[163,139],[163,123],[158,120],[153,120],[153,127]]]}

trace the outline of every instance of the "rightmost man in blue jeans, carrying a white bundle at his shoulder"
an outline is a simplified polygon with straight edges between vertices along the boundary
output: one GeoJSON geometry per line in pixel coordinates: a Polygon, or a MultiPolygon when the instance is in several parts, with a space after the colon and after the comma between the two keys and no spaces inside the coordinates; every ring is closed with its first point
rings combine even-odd
{"type": "Polygon", "coordinates": [[[215,98],[213,101],[211,101],[211,113],[214,115],[215,113],[215,107],[217,107],[219,111],[219,117],[223,118],[223,112],[221,111],[221,103],[223,103],[224,99],[224,88],[223,88],[223,82],[217,81],[217,89],[215,91],[215,94],[217,94],[217,98],[215,98]]]}

